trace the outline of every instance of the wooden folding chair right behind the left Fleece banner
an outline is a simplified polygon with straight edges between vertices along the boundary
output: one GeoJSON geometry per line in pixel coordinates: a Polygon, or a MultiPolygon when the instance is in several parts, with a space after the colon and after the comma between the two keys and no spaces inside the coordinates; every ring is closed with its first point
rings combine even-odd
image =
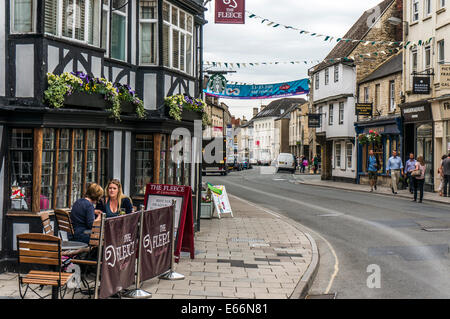
{"type": "MultiPolygon", "coordinates": [[[[100,272],[100,264],[101,264],[101,257],[102,257],[102,245],[103,245],[103,226],[105,223],[105,214],[102,214],[102,217],[100,220],[95,220],[92,224],[92,232],[89,239],[89,246],[87,248],[82,248],[82,250],[79,250],[77,252],[77,255],[79,256],[80,253],[85,252],[87,253],[87,256],[92,257],[93,252],[96,250],[95,254],[95,260],[88,260],[88,259],[78,259],[78,256],[75,256],[73,259],[71,259],[72,264],[79,265],[80,268],[84,268],[81,272],[81,282],[85,287],[87,287],[87,292],[89,294],[89,298],[91,298],[91,288],[90,283],[87,279],[87,275],[89,272],[90,267],[95,267],[96,269],[96,279],[94,283],[94,289],[97,288],[97,282],[99,279],[99,272],[100,272]]],[[[92,281],[91,281],[92,283],[92,281]]],[[[82,289],[79,289],[80,292],[83,292],[82,289]]],[[[73,293],[75,295],[75,291],[73,293]]]]}

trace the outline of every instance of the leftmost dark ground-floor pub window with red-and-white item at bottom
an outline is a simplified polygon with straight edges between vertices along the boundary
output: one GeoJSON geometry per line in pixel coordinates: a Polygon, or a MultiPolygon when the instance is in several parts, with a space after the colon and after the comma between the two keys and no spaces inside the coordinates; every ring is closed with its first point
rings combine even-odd
{"type": "Polygon", "coordinates": [[[12,129],[9,149],[11,209],[28,211],[33,189],[33,131],[12,129]]]}

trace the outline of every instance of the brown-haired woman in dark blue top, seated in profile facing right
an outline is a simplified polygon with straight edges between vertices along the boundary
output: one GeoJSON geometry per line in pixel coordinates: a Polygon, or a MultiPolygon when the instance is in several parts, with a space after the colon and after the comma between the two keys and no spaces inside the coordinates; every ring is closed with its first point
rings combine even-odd
{"type": "Polygon", "coordinates": [[[88,185],[86,194],[77,200],[70,212],[74,235],[69,235],[69,240],[81,241],[89,244],[90,231],[94,220],[100,219],[102,212],[96,210],[94,205],[103,196],[103,188],[95,183],[88,185]]]}

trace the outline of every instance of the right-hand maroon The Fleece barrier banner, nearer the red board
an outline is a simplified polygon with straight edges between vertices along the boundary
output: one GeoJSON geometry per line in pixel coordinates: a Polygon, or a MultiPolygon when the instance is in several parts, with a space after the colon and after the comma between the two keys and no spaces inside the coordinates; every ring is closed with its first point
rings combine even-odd
{"type": "Polygon", "coordinates": [[[142,222],[141,280],[159,276],[171,268],[174,206],[145,211],[142,222]]]}

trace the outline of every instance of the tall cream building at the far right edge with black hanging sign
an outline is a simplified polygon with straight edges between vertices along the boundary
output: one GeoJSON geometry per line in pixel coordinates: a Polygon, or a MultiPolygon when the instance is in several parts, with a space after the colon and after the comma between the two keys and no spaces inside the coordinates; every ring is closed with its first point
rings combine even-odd
{"type": "Polygon", "coordinates": [[[444,0],[407,0],[403,8],[404,155],[424,156],[428,191],[437,190],[441,156],[450,153],[449,9],[444,0]]]}

